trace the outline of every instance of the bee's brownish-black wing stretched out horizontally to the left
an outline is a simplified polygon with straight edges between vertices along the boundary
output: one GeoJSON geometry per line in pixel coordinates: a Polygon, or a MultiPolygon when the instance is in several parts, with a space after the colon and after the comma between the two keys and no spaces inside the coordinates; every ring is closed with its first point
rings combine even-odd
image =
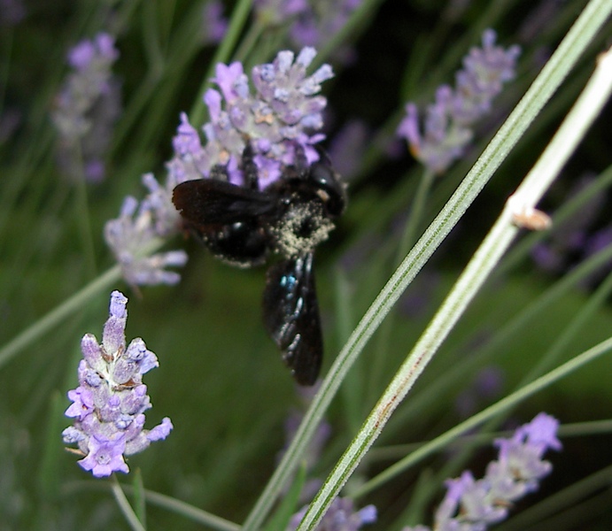
{"type": "Polygon", "coordinates": [[[172,202],[195,227],[230,225],[273,212],[274,196],[227,181],[197,179],[174,187],[172,202]]]}

